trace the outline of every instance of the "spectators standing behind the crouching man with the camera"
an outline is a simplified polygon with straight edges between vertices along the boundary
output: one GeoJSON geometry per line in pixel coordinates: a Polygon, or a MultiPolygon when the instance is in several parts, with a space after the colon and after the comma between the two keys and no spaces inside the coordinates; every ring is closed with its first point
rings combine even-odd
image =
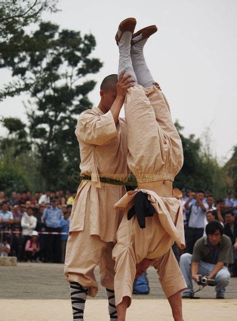
{"type": "Polygon", "coordinates": [[[206,236],[207,223],[218,221],[224,228],[224,234],[231,240],[233,260],[231,275],[237,276],[237,191],[234,198],[227,191],[225,199],[215,200],[211,191],[192,192],[182,190],[183,216],[185,225],[185,252],[192,254],[196,242],[206,236]]]}

